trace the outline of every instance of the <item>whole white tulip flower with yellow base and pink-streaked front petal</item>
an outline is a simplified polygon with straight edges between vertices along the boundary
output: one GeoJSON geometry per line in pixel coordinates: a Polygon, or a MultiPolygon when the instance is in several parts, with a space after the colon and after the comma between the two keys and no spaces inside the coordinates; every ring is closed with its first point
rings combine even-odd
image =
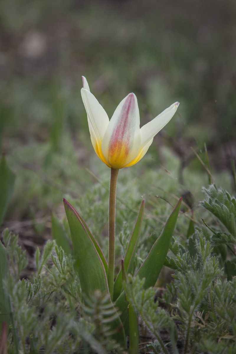
{"type": "Polygon", "coordinates": [[[171,120],[179,102],[173,103],[140,129],[137,97],[129,93],[117,106],[110,121],[107,113],[90,92],[82,76],[82,100],[87,112],[93,148],[112,169],[136,164],[148,151],[154,136],[171,120]]]}

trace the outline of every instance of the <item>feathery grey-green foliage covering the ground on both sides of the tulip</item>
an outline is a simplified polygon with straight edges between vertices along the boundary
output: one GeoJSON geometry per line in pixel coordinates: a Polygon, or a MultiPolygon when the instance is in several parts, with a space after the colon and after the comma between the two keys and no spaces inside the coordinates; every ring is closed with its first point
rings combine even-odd
{"type": "MultiPolygon", "coordinates": [[[[172,280],[162,295],[158,287],[145,289],[145,279],[133,277],[135,269],[127,275],[125,294],[138,316],[140,353],[235,353],[236,202],[215,185],[204,192],[209,221],[186,238],[174,234],[165,262],[172,280]]],[[[115,339],[115,304],[100,291],[83,296],[73,256],[48,241],[41,254],[35,252],[35,272],[20,280],[27,257],[16,235],[5,230],[3,241],[11,309],[7,353],[125,352],[115,339]]],[[[137,258],[142,256],[138,247],[137,258]]]]}

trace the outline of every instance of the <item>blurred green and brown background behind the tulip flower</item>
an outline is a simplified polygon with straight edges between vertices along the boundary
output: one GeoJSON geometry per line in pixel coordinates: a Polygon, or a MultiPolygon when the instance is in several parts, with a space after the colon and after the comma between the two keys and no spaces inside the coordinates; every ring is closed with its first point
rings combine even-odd
{"type": "Polygon", "coordinates": [[[62,196],[91,188],[86,169],[109,174],[90,143],[81,75],[109,117],[134,92],[141,126],[180,102],[149,150],[158,164],[160,147],[171,150],[180,183],[186,166],[203,169],[204,143],[214,173],[230,175],[235,19],[234,0],[1,1],[0,150],[17,175],[8,219],[43,222],[62,196]]]}

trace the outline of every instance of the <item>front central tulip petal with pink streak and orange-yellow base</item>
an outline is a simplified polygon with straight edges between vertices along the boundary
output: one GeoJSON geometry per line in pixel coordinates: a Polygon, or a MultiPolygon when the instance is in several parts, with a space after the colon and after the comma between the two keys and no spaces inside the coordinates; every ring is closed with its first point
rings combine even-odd
{"type": "Polygon", "coordinates": [[[137,97],[129,93],[116,108],[102,141],[102,152],[109,165],[122,168],[138,154],[140,119],[137,97]]]}

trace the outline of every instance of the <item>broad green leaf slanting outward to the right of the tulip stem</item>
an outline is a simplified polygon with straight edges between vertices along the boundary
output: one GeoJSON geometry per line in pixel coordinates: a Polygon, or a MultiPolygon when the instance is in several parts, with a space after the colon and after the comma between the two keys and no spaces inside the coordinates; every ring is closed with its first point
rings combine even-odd
{"type": "Polygon", "coordinates": [[[140,279],[145,278],[144,289],[154,286],[165,262],[169,245],[171,243],[175,224],[179,215],[182,198],[179,199],[174,210],[169,216],[161,235],[152,246],[148,256],[139,268],[136,275],[140,279]]]}

